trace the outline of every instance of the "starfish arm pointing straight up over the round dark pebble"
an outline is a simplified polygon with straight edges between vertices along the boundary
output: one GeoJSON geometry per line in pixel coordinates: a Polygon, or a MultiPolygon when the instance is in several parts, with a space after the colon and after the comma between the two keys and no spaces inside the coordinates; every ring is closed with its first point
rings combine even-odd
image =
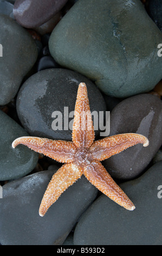
{"type": "Polygon", "coordinates": [[[94,141],[94,127],[85,83],[80,83],[77,91],[72,138],[77,148],[89,148],[94,141]]]}

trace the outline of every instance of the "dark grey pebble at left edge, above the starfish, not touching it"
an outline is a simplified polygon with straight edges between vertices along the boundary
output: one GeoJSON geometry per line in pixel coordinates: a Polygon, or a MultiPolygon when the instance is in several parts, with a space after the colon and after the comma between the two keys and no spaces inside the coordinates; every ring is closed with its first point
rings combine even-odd
{"type": "Polygon", "coordinates": [[[2,14],[0,42],[3,46],[3,57],[0,57],[0,105],[5,105],[15,97],[24,76],[36,62],[37,48],[24,28],[2,14]]]}

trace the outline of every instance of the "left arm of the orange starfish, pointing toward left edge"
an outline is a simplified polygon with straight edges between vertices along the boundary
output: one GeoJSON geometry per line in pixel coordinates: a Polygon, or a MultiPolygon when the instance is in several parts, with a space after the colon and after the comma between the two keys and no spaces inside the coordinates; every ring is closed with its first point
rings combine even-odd
{"type": "Polygon", "coordinates": [[[74,143],[67,141],[53,141],[47,138],[25,136],[15,139],[12,142],[12,148],[15,148],[18,144],[26,145],[28,148],[62,163],[73,162],[76,153],[74,143]]]}

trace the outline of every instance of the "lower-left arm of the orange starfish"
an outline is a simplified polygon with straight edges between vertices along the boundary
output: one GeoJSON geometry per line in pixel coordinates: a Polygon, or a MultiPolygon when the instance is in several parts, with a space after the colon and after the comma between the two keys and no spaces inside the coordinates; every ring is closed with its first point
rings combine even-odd
{"type": "Polygon", "coordinates": [[[82,174],[82,168],[76,166],[74,163],[64,164],[57,170],[44,193],[39,210],[40,216],[43,217],[49,207],[56,202],[69,186],[73,185],[77,179],[81,178],[82,174]]]}

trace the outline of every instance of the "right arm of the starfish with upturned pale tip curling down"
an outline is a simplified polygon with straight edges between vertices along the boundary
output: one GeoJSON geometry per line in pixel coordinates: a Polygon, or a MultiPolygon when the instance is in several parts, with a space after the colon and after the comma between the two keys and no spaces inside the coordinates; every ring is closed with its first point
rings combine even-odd
{"type": "Polygon", "coordinates": [[[144,147],[147,147],[149,144],[145,136],[137,133],[114,135],[95,141],[90,147],[90,154],[93,159],[103,161],[139,143],[142,143],[144,147]]]}

